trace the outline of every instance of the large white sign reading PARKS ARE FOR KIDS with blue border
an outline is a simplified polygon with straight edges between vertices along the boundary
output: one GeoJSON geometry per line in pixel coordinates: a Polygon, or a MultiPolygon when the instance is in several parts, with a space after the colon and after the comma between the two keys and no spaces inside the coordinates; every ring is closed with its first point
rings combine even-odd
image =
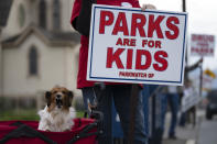
{"type": "Polygon", "coordinates": [[[87,80],[183,85],[187,13],[94,4],[87,80]]]}

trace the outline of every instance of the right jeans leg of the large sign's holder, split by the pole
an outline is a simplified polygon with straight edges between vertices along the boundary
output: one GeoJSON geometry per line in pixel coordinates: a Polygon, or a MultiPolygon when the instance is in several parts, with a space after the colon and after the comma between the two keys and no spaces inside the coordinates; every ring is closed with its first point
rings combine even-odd
{"type": "MultiPolygon", "coordinates": [[[[126,140],[128,140],[129,136],[131,90],[131,85],[113,87],[113,101],[120,117],[123,136],[126,140]]],[[[148,136],[144,133],[144,114],[142,107],[142,95],[140,91],[134,114],[134,144],[147,144],[148,141],[148,136]]]]}

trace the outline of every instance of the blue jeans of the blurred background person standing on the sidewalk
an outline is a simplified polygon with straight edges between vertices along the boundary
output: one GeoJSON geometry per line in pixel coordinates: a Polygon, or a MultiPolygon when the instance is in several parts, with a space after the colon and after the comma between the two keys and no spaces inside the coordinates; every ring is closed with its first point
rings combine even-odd
{"type": "Polygon", "coordinates": [[[162,131],[164,131],[164,123],[165,123],[165,114],[167,110],[167,102],[171,108],[171,124],[169,130],[169,136],[175,135],[175,128],[177,124],[177,112],[178,112],[178,95],[177,93],[167,93],[167,95],[161,95],[162,98],[162,131]]]}

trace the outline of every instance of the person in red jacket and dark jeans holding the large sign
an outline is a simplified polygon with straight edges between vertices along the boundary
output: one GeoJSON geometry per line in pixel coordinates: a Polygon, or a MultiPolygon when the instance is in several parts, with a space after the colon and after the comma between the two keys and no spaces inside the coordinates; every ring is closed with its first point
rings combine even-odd
{"type": "MultiPolygon", "coordinates": [[[[75,0],[72,25],[82,34],[80,51],[79,51],[79,68],[77,76],[77,88],[82,89],[84,99],[94,98],[95,92],[93,87],[95,81],[87,81],[87,58],[88,58],[88,41],[90,29],[90,14],[91,4],[108,4],[117,7],[133,7],[140,8],[139,0],[75,0]]],[[[154,5],[147,4],[142,7],[142,10],[155,9],[154,5]]],[[[106,42],[106,40],[105,40],[106,42]]],[[[139,86],[138,86],[139,87],[139,86]]],[[[97,92],[100,97],[98,107],[104,112],[104,135],[99,139],[99,144],[112,144],[111,139],[111,100],[113,98],[116,109],[119,113],[121,126],[123,130],[124,140],[129,136],[129,123],[130,123],[130,99],[132,93],[132,85],[130,84],[106,84],[102,89],[98,89],[97,92]]],[[[98,96],[97,96],[98,97],[98,96]]],[[[147,135],[144,133],[144,115],[142,111],[142,95],[141,87],[138,92],[137,113],[134,115],[134,135],[133,144],[147,144],[147,135]]],[[[87,100],[85,100],[87,101],[87,100]]],[[[87,103],[86,103],[87,106],[87,103]]]]}

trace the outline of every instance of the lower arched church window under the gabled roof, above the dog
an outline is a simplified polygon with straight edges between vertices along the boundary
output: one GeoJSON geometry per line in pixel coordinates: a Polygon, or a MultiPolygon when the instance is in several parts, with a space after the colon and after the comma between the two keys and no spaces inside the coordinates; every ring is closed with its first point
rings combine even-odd
{"type": "Polygon", "coordinates": [[[29,74],[30,76],[37,75],[37,49],[32,46],[29,52],[29,74]]]}

